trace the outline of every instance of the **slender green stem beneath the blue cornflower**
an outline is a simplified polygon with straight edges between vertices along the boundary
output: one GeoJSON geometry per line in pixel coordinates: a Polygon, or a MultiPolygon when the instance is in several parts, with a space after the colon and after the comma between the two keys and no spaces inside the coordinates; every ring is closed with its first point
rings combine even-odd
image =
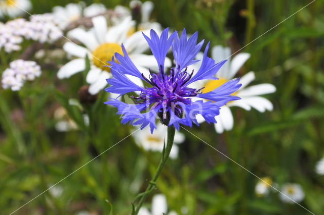
{"type": "Polygon", "coordinates": [[[174,139],[174,134],[175,134],[175,128],[173,126],[169,126],[168,127],[168,140],[167,140],[167,146],[164,147],[163,152],[162,152],[162,157],[160,160],[160,163],[158,164],[158,167],[155,171],[155,174],[153,176],[153,179],[149,182],[149,185],[147,186],[145,192],[140,193],[139,195],[137,195],[137,197],[135,198],[134,202],[136,201],[136,199],[140,198],[138,205],[136,208],[133,207],[133,211],[132,211],[132,215],[137,215],[138,211],[140,210],[142,204],[145,202],[147,196],[152,192],[152,190],[155,188],[156,186],[156,180],[158,178],[158,176],[160,175],[160,173],[162,172],[168,158],[170,155],[170,151],[172,149],[172,145],[173,145],[173,139],[174,139]]]}

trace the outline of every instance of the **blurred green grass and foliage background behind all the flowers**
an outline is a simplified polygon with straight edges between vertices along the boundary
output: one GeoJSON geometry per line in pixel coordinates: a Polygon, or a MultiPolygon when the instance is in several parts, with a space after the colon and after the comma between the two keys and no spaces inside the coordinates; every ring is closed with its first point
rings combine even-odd
{"type": "MultiPolygon", "coordinates": [[[[77,1],[32,2],[32,14],[42,14],[56,5],[77,1]]],[[[129,1],[94,2],[107,8],[129,6],[129,1]]],[[[152,18],[163,27],[198,31],[199,39],[235,51],[310,1],[153,2],[152,18]]],[[[323,1],[315,1],[241,50],[251,53],[251,58],[239,76],[255,71],[254,84],[276,86],[275,93],[264,96],[274,104],[272,112],[233,108],[234,128],[221,135],[206,123],[190,129],[257,176],[271,177],[278,185],[300,184],[305,192],[301,204],[315,214],[324,211],[324,176],[314,172],[324,155],[323,6],[323,1]]],[[[63,63],[52,59],[49,64],[63,63]]],[[[0,92],[1,214],[9,214],[130,133],[130,126],[120,125],[115,109],[102,103],[104,92],[82,110],[68,105],[69,98],[78,98],[82,74],[57,80],[56,72],[57,67],[49,66],[19,93],[0,92]],[[79,131],[55,130],[53,112],[59,103],[68,109],[79,131]],[[90,116],[91,129],[82,125],[84,113],[90,116]]],[[[179,214],[184,212],[183,206],[187,214],[310,214],[297,204],[281,202],[276,192],[256,196],[255,176],[181,132],[186,140],[179,145],[179,157],[168,160],[154,191],[167,196],[169,208],[179,214]]],[[[75,214],[82,210],[108,214],[111,205],[112,214],[129,214],[132,200],[145,189],[159,159],[160,153],[144,151],[128,137],[62,181],[59,198],[46,192],[16,214],[75,214]]]]}

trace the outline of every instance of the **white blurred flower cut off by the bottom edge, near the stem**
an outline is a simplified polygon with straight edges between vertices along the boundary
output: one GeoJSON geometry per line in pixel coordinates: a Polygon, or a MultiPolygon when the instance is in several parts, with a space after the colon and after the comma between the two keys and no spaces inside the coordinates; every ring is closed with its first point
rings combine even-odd
{"type": "Polygon", "coordinates": [[[146,207],[141,207],[138,215],[161,215],[163,213],[168,215],[177,215],[175,211],[168,211],[168,204],[167,204],[167,198],[163,194],[156,194],[152,198],[152,206],[151,211],[149,211],[146,207]]]}

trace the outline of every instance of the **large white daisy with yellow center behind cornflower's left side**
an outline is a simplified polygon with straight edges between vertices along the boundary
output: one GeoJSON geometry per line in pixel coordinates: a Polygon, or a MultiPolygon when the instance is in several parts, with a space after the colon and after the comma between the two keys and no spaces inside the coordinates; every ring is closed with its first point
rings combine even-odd
{"type": "MultiPolygon", "coordinates": [[[[75,73],[84,71],[86,66],[85,57],[88,55],[91,63],[91,69],[86,78],[90,84],[89,92],[91,94],[98,93],[106,86],[106,79],[111,77],[110,68],[106,66],[109,65],[107,61],[111,61],[115,52],[123,54],[121,43],[125,45],[129,57],[144,75],[149,74],[147,68],[155,68],[155,58],[152,55],[143,54],[148,49],[148,45],[142,32],[129,33],[135,25],[131,17],[111,27],[107,27],[107,21],[103,16],[92,18],[92,22],[94,28],[89,31],[75,28],[68,32],[68,37],[78,40],[86,47],[72,42],[64,44],[63,49],[70,56],[76,57],[76,59],[60,68],[57,73],[58,78],[68,78],[75,73]]],[[[143,30],[143,32],[148,33],[149,29],[143,30]]],[[[171,61],[167,61],[166,64],[170,67],[171,61]]],[[[129,76],[129,78],[136,81],[137,84],[143,85],[139,78],[134,76],[129,76]]]]}

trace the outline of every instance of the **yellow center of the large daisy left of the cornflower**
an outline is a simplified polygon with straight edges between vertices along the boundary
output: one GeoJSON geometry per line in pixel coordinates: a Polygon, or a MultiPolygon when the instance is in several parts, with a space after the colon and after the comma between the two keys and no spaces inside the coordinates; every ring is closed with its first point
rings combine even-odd
{"type": "Polygon", "coordinates": [[[110,72],[110,64],[107,61],[111,61],[112,57],[114,56],[115,52],[123,54],[123,50],[121,49],[118,43],[102,43],[100,44],[93,52],[93,64],[97,67],[110,72]]]}

